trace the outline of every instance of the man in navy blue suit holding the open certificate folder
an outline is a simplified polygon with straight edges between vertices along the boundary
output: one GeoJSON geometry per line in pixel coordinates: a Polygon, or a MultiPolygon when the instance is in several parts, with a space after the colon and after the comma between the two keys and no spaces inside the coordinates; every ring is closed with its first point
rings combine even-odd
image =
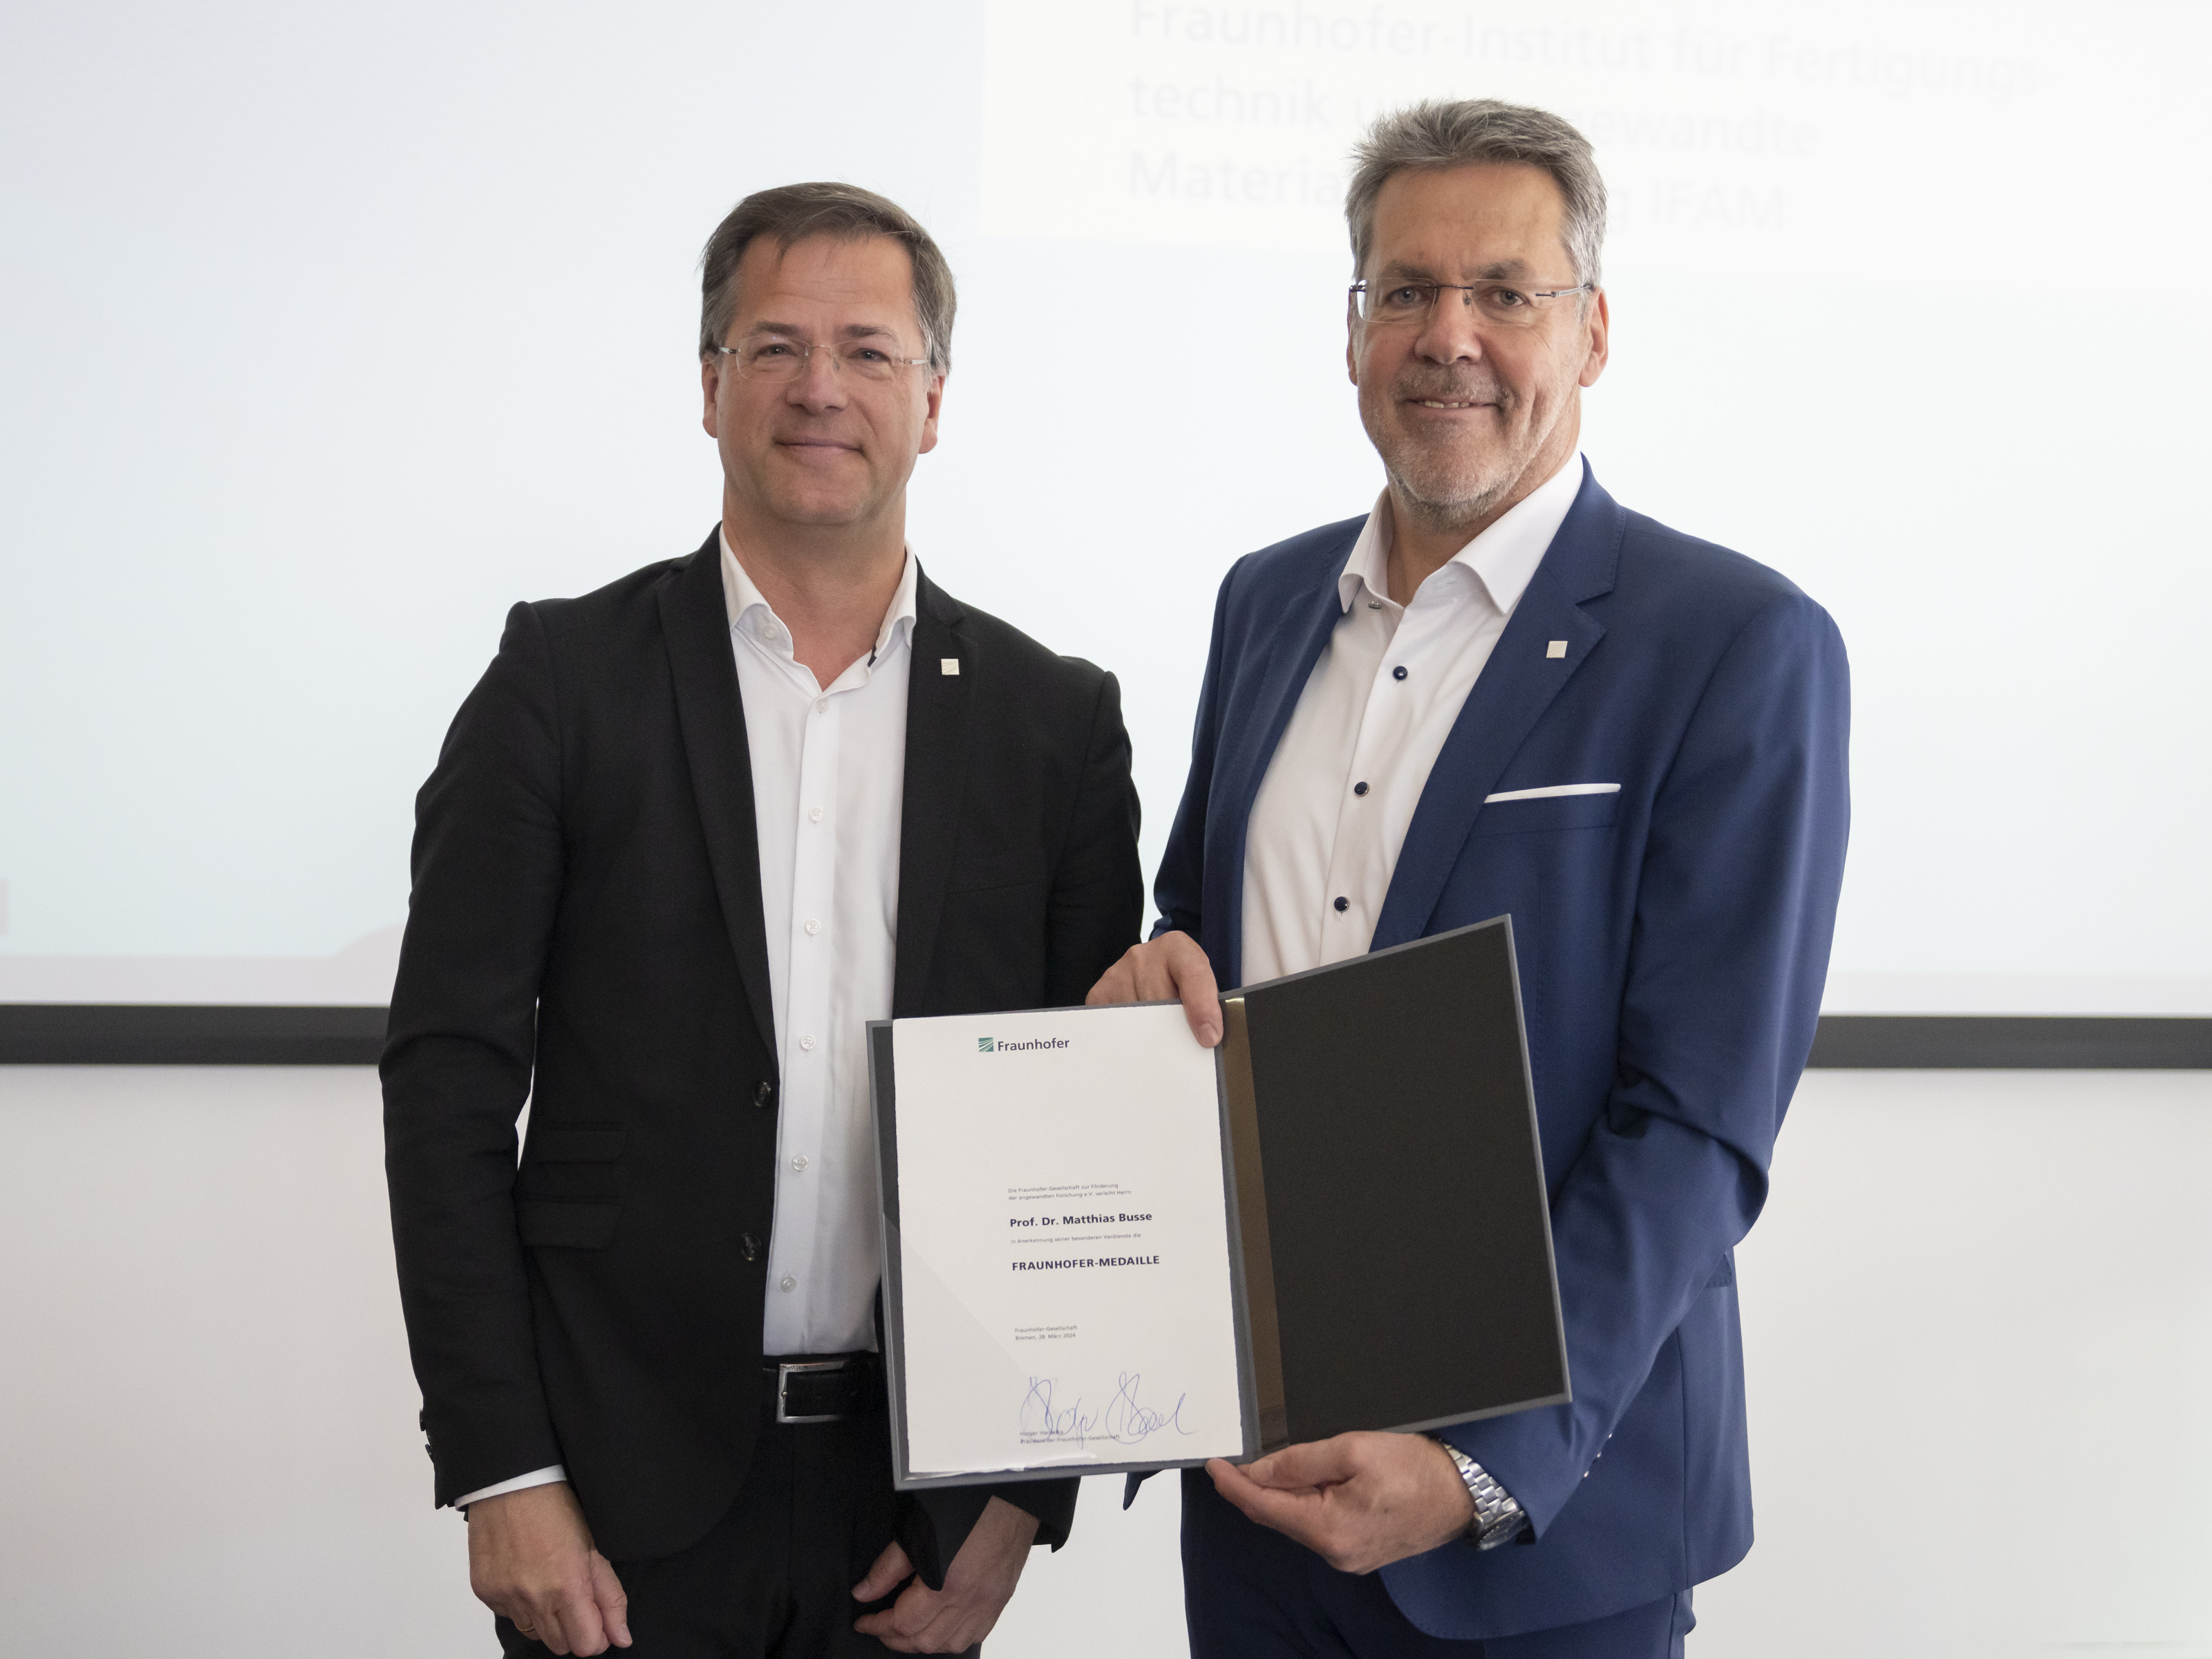
{"type": "Polygon", "coordinates": [[[1573,126],[1422,104],[1356,161],[1389,482],[1230,568],[1161,920],[1091,1000],[1179,995],[1217,1042],[1217,984],[1511,916],[1573,1405],[1186,1471],[1192,1652],[1681,1655],[1752,1544],[1734,1245],[1827,973],[1843,639],[1582,462],[1608,312],[1573,126]]]}

